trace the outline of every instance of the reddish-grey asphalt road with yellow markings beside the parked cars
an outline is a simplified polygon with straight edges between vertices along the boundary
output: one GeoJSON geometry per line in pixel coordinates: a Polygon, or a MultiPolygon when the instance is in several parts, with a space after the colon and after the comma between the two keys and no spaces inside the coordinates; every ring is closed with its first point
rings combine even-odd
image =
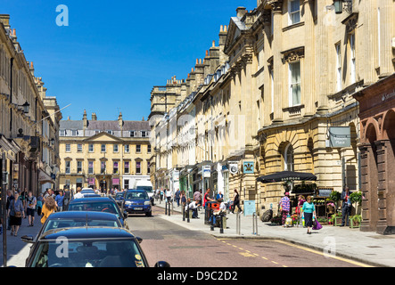
{"type": "Polygon", "coordinates": [[[162,208],[152,217],[130,215],[131,232],[141,244],[149,264],[169,262],[171,267],[358,267],[360,264],[276,240],[217,239],[161,219],[162,208]]]}

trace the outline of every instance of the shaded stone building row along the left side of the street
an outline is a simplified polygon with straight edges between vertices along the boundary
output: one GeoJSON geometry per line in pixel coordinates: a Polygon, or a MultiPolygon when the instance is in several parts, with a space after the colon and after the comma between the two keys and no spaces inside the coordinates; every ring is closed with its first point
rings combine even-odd
{"type": "Polygon", "coordinates": [[[37,195],[57,185],[59,110],[26,60],[10,16],[0,15],[0,166],[7,189],[37,195]]]}

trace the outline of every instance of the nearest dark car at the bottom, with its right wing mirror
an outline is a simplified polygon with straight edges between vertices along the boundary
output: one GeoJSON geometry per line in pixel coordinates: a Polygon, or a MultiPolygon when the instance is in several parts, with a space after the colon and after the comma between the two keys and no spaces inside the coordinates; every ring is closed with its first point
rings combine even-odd
{"type": "Polygon", "coordinates": [[[26,267],[148,267],[141,241],[123,228],[50,230],[37,240],[26,267]]]}

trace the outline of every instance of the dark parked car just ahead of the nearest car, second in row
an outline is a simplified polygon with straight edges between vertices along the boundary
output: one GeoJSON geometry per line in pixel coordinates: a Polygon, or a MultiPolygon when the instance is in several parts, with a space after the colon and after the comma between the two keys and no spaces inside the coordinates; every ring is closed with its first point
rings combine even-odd
{"type": "MultiPolygon", "coordinates": [[[[36,237],[32,235],[25,235],[21,237],[21,240],[32,243],[33,246],[30,248],[30,252],[34,250],[37,245],[37,240],[45,234],[45,232],[52,230],[68,229],[73,227],[81,226],[98,226],[98,227],[122,227],[117,216],[110,213],[100,212],[57,212],[48,216],[45,224],[41,227],[36,237]]],[[[26,264],[29,263],[29,257],[26,260],[26,264]]]]}

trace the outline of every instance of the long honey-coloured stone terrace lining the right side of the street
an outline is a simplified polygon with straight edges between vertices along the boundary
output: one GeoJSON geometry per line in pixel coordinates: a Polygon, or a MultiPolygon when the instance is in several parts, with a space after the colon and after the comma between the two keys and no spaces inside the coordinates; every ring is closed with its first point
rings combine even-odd
{"type": "Polygon", "coordinates": [[[362,189],[354,95],[395,71],[395,5],[341,2],[341,10],[333,0],[239,7],[220,28],[219,45],[196,61],[187,79],[162,86],[160,110],[152,90],[157,188],[177,182],[187,192],[210,187],[226,198],[237,189],[243,200],[256,201],[258,212],[276,211],[284,195],[282,183],[258,183],[260,175],[309,172],[318,187],[362,189]],[[167,97],[174,84],[177,96],[167,97]],[[171,106],[166,98],[175,99],[171,106]],[[203,166],[210,177],[203,177],[203,166]]]}

